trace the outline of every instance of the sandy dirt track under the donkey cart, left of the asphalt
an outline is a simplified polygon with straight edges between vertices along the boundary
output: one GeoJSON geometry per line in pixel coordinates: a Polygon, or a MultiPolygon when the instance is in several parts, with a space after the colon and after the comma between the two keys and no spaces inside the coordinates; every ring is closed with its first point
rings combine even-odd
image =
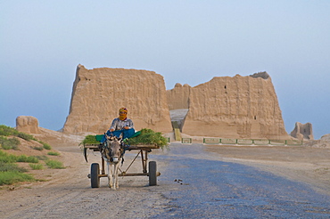
{"type": "MultiPolygon", "coordinates": [[[[90,154],[87,164],[77,145],[57,150],[66,169],[54,170],[49,182],[1,191],[2,218],[143,218],[166,209],[169,200],[161,195],[164,188],[148,186],[148,177],[120,178],[118,191],[111,191],[102,178],[101,188],[92,189],[87,174],[90,164],[100,161],[98,153],[90,154]]],[[[138,167],[132,170],[139,171],[138,167]]]]}

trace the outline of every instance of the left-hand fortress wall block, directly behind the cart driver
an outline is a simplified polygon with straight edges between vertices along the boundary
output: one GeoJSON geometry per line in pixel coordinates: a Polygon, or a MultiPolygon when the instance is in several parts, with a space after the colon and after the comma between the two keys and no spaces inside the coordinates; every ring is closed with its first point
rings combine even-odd
{"type": "Polygon", "coordinates": [[[128,109],[136,130],[172,130],[165,82],[153,71],[136,69],[86,69],[78,65],[73,83],[70,114],[65,133],[103,134],[117,118],[119,109],[128,109]]]}

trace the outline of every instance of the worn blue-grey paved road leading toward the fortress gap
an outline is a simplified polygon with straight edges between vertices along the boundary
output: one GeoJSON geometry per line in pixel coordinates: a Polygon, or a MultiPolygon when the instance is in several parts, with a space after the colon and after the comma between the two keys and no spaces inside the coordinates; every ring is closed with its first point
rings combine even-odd
{"type": "Polygon", "coordinates": [[[171,144],[160,186],[170,199],[168,210],[156,218],[330,218],[329,196],[306,184],[217,160],[202,145],[171,144]],[[174,185],[174,186],[173,186],[174,185]]]}

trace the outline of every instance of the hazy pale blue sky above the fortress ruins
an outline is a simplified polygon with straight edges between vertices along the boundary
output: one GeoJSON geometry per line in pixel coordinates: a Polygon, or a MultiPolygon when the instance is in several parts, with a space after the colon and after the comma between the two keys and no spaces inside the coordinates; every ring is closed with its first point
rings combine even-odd
{"type": "Polygon", "coordinates": [[[167,89],[267,71],[290,134],[330,134],[330,1],[0,0],[0,124],[59,130],[78,64],[147,69],[167,89]]]}

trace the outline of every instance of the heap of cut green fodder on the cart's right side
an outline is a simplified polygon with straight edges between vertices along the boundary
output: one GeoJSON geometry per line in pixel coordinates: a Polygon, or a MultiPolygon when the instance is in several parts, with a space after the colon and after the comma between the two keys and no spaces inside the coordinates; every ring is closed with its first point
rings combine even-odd
{"type": "Polygon", "coordinates": [[[135,145],[139,143],[145,144],[156,144],[161,149],[168,146],[168,140],[164,138],[161,133],[156,133],[152,129],[144,128],[141,131],[141,134],[128,139],[128,144],[135,145]]]}

